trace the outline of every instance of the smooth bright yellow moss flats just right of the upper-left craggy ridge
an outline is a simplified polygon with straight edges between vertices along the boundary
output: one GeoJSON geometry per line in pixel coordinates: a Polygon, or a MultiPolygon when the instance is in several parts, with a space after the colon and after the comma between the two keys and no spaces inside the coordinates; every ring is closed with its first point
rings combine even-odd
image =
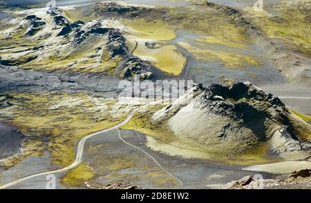
{"type": "Polygon", "coordinates": [[[176,37],[174,30],[167,23],[161,19],[149,21],[140,18],[126,20],[124,25],[132,28],[133,30],[130,31],[131,35],[135,35],[135,37],[128,37],[128,39],[138,43],[133,55],[149,61],[163,72],[171,75],[180,75],[185,68],[187,59],[176,46],[165,42],[176,37]],[[156,41],[159,46],[147,48],[144,44],[146,41],[156,41]]]}

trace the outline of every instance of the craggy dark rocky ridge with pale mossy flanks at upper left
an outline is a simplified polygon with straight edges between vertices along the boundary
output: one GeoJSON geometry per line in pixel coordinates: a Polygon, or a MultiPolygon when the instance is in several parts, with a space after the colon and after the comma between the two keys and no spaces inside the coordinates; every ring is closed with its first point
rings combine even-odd
{"type": "Polygon", "coordinates": [[[121,72],[120,76],[128,79],[134,75],[140,75],[141,79],[152,77],[150,65],[129,52],[120,29],[106,28],[101,21],[70,23],[60,9],[48,10],[44,17],[30,14],[23,18],[19,26],[3,35],[7,35],[8,43],[17,37],[37,42],[36,46],[22,50],[14,47],[6,49],[0,59],[4,66],[31,69],[48,60],[49,63],[45,64],[51,64],[53,67],[48,69],[53,70],[77,69],[74,72],[104,74],[121,72]],[[75,55],[86,50],[90,52],[89,55],[74,60],[75,55]],[[64,59],[68,64],[57,62],[64,59]]]}

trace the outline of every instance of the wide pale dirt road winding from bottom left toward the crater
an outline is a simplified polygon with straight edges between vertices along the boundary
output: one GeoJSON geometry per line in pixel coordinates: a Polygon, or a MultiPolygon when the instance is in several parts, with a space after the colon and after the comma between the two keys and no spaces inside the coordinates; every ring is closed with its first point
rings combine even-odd
{"type": "Polygon", "coordinates": [[[72,164],[70,164],[70,166],[66,166],[65,168],[60,168],[60,169],[56,169],[56,170],[53,170],[53,171],[46,171],[46,172],[42,172],[42,173],[35,173],[33,175],[28,175],[26,177],[23,177],[19,180],[15,180],[14,182],[10,182],[8,184],[3,184],[0,186],[0,189],[6,189],[10,186],[14,186],[15,184],[19,184],[23,181],[26,181],[26,180],[29,180],[29,179],[32,179],[34,177],[39,177],[39,176],[42,176],[42,175],[48,175],[48,174],[52,174],[52,173],[60,173],[60,172],[64,172],[64,171],[68,171],[72,168],[75,168],[76,166],[79,166],[79,164],[81,164],[82,162],[82,157],[83,157],[83,151],[84,151],[84,144],[86,142],[87,139],[90,139],[91,137],[94,137],[95,135],[98,135],[100,133],[106,133],[106,132],[109,132],[109,131],[114,131],[116,129],[119,129],[121,126],[123,126],[124,124],[128,123],[134,113],[137,111],[138,109],[136,110],[133,110],[131,111],[131,113],[129,113],[129,115],[126,117],[126,119],[124,119],[123,122],[120,122],[120,124],[117,124],[115,126],[112,126],[111,128],[106,128],[102,131],[98,131],[96,133],[91,133],[90,135],[87,135],[86,137],[83,137],[82,139],[80,139],[78,145],[77,145],[77,153],[76,153],[76,156],[75,156],[75,162],[73,162],[72,164]]]}

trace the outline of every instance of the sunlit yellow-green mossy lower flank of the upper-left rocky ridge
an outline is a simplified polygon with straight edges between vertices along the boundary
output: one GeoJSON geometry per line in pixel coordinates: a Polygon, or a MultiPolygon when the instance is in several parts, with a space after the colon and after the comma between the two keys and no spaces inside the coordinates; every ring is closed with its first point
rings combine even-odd
{"type": "MultiPolygon", "coordinates": [[[[12,39],[3,40],[0,45],[3,47],[23,46],[23,49],[30,48],[32,50],[35,46],[40,46],[40,42],[30,37],[23,37],[22,33],[25,30],[18,30],[12,39]]],[[[42,41],[43,39],[41,39],[42,41]]],[[[14,59],[15,64],[19,65],[25,70],[68,70],[73,72],[92,72],[92,73],[102,73],[104,75],[115,75],[117,74],[116,68],[122,61],[122,56],[117,55],[111,57],[106,48],[106,37],[97,37],[93,39],[92,43],[85,43],[82,46],[68,47],[69,52],[60,50],[59,54],[55,52],[44,52],[44,55],[33,54],[32,51],[23,52],[17,56],[15,49],[8,49],[5,52],[5,57],[10,58],[10,54],[18,59],[14,59]],[[104,54],[102,59],[98,55],[99,50],[97,48],[102,48],[104,54]]],[[[4,54],[3,54],[4,55],[4,54]]]]}

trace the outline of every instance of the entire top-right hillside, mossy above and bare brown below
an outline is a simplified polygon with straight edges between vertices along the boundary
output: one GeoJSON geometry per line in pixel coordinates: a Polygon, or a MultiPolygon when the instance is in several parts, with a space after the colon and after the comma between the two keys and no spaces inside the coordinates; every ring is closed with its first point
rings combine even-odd
{"type": "Polygon", "coordinates": [[[310,86],[311,1],[280,1],[263,12],[205,3],[232,18],[294,83],[310,86]]]}

